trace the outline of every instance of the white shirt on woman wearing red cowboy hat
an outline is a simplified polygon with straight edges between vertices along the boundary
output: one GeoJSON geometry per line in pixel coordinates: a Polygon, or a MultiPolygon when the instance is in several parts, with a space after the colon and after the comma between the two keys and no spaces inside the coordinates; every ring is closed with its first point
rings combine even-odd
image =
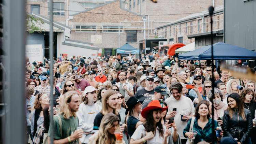
{"type": "MultiPolygon", "coordinates": [[[[158,127],[156,128],[156,133],[153,139],[147,140],[147,144],[162,144],[163,143],[163,137],[160,136],[158,127]]],[[[165,133],[166,127],[163,125],[163,133],[165,133]]],[[[139,140],[146,136],[146,131],[144,125],[139,125],[137,129],[134,131],[134,133],[131,136],[131,139],[133,140],[139,140]]],[[[169,140],[169,136],[167,138],[169,140]]]]}

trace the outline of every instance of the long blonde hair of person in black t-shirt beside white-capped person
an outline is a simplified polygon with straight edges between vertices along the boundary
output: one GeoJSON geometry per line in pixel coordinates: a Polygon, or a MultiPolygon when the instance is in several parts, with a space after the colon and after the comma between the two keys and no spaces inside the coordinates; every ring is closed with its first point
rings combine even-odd
{"type": "MultiPolygon", "coordinates": [[[[112,89],[105,91],[104,97],[102,98],[102,110],[100,111],[103,115],[109,113],[108,104],[106,103],[106,101],[109,99],[110,96],[112,96],[114,94],[117,95],[117,92],[112,89]]],[[[116,112],[115,109],[113,109],[113,113],[118,115],[118,113],[116,112]]]]}

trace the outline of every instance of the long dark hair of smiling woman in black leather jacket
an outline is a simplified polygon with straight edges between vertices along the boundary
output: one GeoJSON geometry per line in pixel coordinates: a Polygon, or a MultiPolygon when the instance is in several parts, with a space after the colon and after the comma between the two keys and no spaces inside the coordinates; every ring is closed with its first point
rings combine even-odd
{"type": "Polygon", "coordinates": [[[238,114],[243,118],[244,121],[246,121],[246,117],[245,117],[245,113],[244,113],[244,104],[243,104],[243,100],[240,97],[240,95],[238,93],[231,93],[227,97],[227,102],[229,103],[228,98],[232,98],[237,102],[237,108],[235,108],[235,109],[232,109],[230,107],[230,105],[228,105],[227,111],[228,111],[230,119],[233,118],[233,113],[238,109],[237,110],[238,114]]]}

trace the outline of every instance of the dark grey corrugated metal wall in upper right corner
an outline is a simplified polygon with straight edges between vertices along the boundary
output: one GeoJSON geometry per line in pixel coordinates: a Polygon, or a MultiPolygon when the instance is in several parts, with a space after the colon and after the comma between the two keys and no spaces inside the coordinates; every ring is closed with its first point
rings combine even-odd
{"type": "Polygon", "coordinates": [[[225,42],[256,51],[256,0],[225,1],[225,42]]]}

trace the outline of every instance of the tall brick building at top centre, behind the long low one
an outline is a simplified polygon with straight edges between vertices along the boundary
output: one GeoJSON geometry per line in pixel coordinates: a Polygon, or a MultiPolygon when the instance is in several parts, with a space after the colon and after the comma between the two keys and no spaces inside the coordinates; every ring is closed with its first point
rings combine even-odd
{"type": "MultiPolygon", "coordinates": [[[[148,20],[153,21],[176,21],[190,14],[207,10],[212,5],[221,6],[223,0],[158,0],[157,3],[151,0],[125,0],[125,8],[145,15],[148,20]]],[[[151,22],[146,25],[151,27],[151,22]]],[[[153,28],[156,28],[164,24],[155,22],[152,25],[153,28]]],[[[155,35],[150,33],[149,38],[154,37],[155,35]]]]}

